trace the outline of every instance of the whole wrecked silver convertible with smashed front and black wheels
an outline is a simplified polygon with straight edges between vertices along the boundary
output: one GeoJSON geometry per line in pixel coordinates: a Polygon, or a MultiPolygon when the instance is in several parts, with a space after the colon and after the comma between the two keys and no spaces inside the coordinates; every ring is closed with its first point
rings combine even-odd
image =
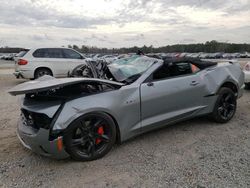
{"type": "Polygon", "coordinates": [[[244,85],[233,62],[132,56],[77,70],[85,77],[44,76],[9,90],[22,95],[17,135],[25,147],[89,161],[115,143],[197,116],[226,123],[244,85]]]}

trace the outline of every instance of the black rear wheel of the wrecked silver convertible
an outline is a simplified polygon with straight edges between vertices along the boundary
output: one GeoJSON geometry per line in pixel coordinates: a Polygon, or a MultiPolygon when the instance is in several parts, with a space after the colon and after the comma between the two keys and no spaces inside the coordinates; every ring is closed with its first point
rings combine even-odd
{"type": "Polygon", "coordinates": [[[230,88],[222,87],[218,92],[218,98],[212,112],[215,122],[226,123],[230,121],[237,108],[237,97],[230,88]]]}

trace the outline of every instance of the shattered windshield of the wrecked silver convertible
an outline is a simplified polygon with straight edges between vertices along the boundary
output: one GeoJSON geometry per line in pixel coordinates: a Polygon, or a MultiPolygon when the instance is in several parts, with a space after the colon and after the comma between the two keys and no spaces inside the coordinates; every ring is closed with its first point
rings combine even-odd
{"type": "Polygon", "coordinates": [[[146,56],[132,56],[129,58],[118,59],[108,65],[110,72],[117,81],[125,81],[131,77],[138,78],[145,72],[157,59],[146,56]]]}

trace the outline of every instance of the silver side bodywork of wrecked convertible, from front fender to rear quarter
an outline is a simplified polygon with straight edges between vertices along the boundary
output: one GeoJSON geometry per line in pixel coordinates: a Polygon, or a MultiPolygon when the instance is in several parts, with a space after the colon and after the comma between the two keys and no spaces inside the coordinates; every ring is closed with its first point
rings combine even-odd
{"type": "Polygon", "coordinates": [[[240,69],[236,71],[236,75],[232,75],[231,71],[235,66],[225,64],[208,71],[205,69],[196,74],[178,77],[177,80],[156,81],[157,83],[155,82],[155,86],[152,88],[148,87],[146,83],[140,83],[144,82],[159,66],[159,64],[153,65],[137,81],[131,85],[123,86],[119,90],[90,95],[67,102],[53,129],[65,129],[81,115],[93,111],[102,111],[110,114],[117,121],[121,141],[124,141],[147,131],[147,127],[152,124],[155,124],[155,126],[150,129],[157,128],[162,124],[166,125],[168,121],[177,122],[183,118],[210,113],[217,97],[205,98],[204,96],[216,94],[221,85],[228,81],[236,83],[238,87],[241,81],[238,82],[237,80],[242,79],[240,69]],[[220,73],[220,76],[215,76],[218,73],[220,73]],[[209,76],[210,74],[212,76],[209,76]],[[195,87],[190,86],[193,80],[199,82],[195,87]],[[161,86],[164,83],[166,86],[161,86]],[[130,99],[136,102],[126,103],[130,99]],[[94,102],[89,103],[89,101],[94,102]],[[78,111],[75,111],[74,108],[77,108],[78,111]],[[149,115],[150,113],[153,114],[149,115]]]}

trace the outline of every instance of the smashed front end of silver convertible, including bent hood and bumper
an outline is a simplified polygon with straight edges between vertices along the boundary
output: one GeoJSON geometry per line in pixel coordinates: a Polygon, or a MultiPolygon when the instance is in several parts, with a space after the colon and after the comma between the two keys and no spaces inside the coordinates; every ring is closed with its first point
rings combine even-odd
{"type": "Polygon", "coordinates": [[[80,97],[119,89],[121,86],[122,84],[100,79],[55,79],[49,76],[17,85],[9,90],[9,93],[25,95],[21,98],[18,138],[26,148],[40,155],[57,159],[69,157],[63,144],[67,126],[61,126],[58,122],[62,112],[67,114],[64,115],[65,123],[70,124],[75,118],[72,116],[77,113],[67,109],[72,110],[68,103],[80,97]]]}

